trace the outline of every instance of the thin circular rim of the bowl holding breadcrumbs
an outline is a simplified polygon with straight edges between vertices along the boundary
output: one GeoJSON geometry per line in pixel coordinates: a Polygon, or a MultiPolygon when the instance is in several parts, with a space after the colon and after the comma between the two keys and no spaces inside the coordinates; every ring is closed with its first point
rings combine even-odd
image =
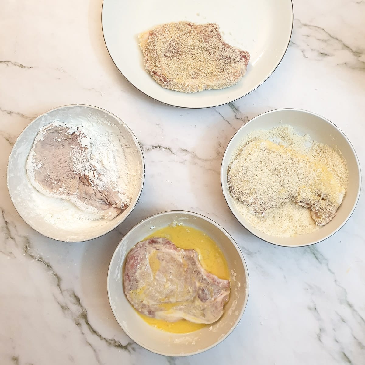
{"type": "MultiPolygon", "coordinates": [[[[227,172],[224,173],[225,176],[227,177],[227,172]]],[[[328,120],[327,118],[324,118],[323,116],[319,115],[319,114],[316,114],[316,113],[313,113],[313,112],[310,112],[308,110],[303,110],[303,109],[295,109],[295,108],[282,108],[282,109],[273,109],[273,110],[269,110],[267,112],[264,112],[264,113],[261,113],[261,114],[258,114],[256,116],[254,116],[253,118],[251,118],[247,123],[243,124],[243,126],[241,128],[239,128],[235,134],[233,135],[233,137],[230,139],[230,141],[228,142],[227,144],[227,147],[226,149],[224,150],[224,154],[223,154],[223,158],[222,158],[222,163],[220,165],[220,185],[222,187],[222,193],[223,193],[223,196],[224,196],[224,199],[226,200],[226,204],[228,205],[228,208],[229,210],[231,211],[231,213],[233,214],[234,218],[237,219],[238,223],[241,224],[241,226],[243,228],[245,228],[247,231],[249,231],[251,234],[253,234],[255,237],[261,239],[262,241],[265,241],[265,242],[268,242],[268,243],[271,243],[272,245],[276,245],[276,246],[280,246],[280,247],[306,247],[306,246],[312,246],[312,245],[315,245],[316,243],[319,243],[319,242],[322,242],[324,240],[326,240],[327,238],[330,238],[331,236],[333,236],[335,233],[337,233],[344,225],[345,223],[350,219],[351,215],[353,214],[356,206],[357,206],[357,203],[359,201],[359,197],[360,197],[360,192],[361,192],[361,168],[360,168],[360,163],[359,163],[359,159],[357,157],[357,154],[356,154],[356,151],[353,147],[353,145],[351,144],[351,142],[349,141],[349,139],[347,138],[347,136],[345,135],[345,133],[342,132],[342,130],[340,128],[338,128],[334,123],[332,123],[330,120],[328,120]],[[315,241],[315,242],[312,242],[312,243],[308,243],[307,245],[300,245],[300,246],[287,246],[287,245],[280,245],[278,243],[275,243],[275,242],[270,242],[264,238],[261,238],[261,237],[258,237],[256,234],[254,234],[248,227],[244,226],[240,220],[238,219],[237,215],[234,214],[234,212],[231,210],[231,207],[230,205],[228,204],[228,198],[226,196],[226,194],[224,194],[224,189],[223,189],[223,161],[224,161],[224,158],[226,157],[226,154],[227,154],[227,149],[228,149],[228,146],[231,144],[232,140],[235,138],[236,134],[245,126],[247,126],[247,124],[251,123],[251,122],[254,122],[255,119],[259,118],[260,116],[262,115],[265,115],[265,114],[270,114],[272,112],[278,112],[278,111],[298,111],[298,112],[303,112],[303,113],[309,113],[311,115],[315,115],[317,116],[318,118],[320,119],[323,119],[325,120],[327,123],[331,124],[331,126],[333,126],[335,129],[337,129],[342,135],[343,137],[346,139],[347,143],[349,143],[349,146],[351,147],[351,150],[353,151],[354,153],[354,156],[355,156],[355,159],[356,159],[356,164],[357,164],[357,167],[358,167],[358,170],[359,170],[359,189],[358,189],[358,192],[357,192],[357,196],[356,196],[356,200],[355,200],[355,204],[354,206],[352,207],[351,211],[350,211],[350,214],[346,217],[346,219],[338,226],[338,228],[336,230],[334,230],[331,234],[327,235],[326,237],[322,238],[322,239],[319,239],[318,241],[315,241]]]]}

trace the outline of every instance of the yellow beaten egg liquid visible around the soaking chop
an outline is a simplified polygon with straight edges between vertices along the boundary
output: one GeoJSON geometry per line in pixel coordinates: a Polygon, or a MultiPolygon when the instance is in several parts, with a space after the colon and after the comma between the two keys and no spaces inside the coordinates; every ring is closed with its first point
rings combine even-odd
{"type": "MultiPolygon", "coordinates": [[[[216,243],[207,234],[193,227],[174,225],[154,231],[146,237],[145,240],[152,237],[167,238],[173,242],[176,247],[181,249],[194,249],[197,251],[200,264],[205,270],[221,279],[229,280],[230,275],[226,259],[216,243]]],[[[157,272],[159,263],[156,262],[152,266],[151,269],[157,272]]],[[[173,307],[174,305],[176,304],[166,303],[164,304],[164,307],[168,309],[169,306],[173,307]]],[[[193,323],[185,319],[176,322],[167,322],[162,319],[151,318],[139,312],[137,313],[151,326],[172,333],[189,333],[209,326],[208,324],[193,323]]]]}

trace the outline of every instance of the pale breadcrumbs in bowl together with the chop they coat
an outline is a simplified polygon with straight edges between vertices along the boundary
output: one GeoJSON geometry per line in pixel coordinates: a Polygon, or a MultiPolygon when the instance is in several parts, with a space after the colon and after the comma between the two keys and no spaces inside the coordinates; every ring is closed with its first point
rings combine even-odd
{"type": "Polygon", "coordinates": [[[330,222],[347,179],[346,162],[337,151],[290,126],[251,132],[228,167],[228,185],[241,214],[255,228],[281,237],[330,222]],[[310,216],[313,224],[307,224],[310,216]]]}

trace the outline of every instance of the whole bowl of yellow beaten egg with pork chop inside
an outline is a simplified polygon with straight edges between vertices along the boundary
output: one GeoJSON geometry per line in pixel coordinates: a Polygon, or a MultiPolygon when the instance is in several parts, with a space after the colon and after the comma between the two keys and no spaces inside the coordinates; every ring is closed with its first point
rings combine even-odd
{"type": "Polygon", "coordinates": [[[241,319],[248,292],[237,244],[192,212],[142,220],[120,241],[108,271],[110,305],[124,332],[166,356],[198,354],[223,341],[241,319]]]}

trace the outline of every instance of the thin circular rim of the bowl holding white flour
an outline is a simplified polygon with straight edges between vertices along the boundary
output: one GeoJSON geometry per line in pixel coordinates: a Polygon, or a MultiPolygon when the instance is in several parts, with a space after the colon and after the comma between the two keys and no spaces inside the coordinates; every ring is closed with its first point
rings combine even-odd
{"type": "Polygon", "coordinates": [[[16,141],[15,141],[15,143],[14,143],[14,146],[12,147],[12,149],[11,149],[11,151],[10,151],[10,154],[9,154],[9,157],[8,157],[8,165],[7,165],[7,187],[8,187],[8,192],[9,192],[9,196],[10,196],[10,199],[11,199],[11,202],[13,203],[13,205],[14,205],[14,208],[15,208],[15,210],[18,212],[18,214],[19,214],[19,216],[20,216],[20,218],[22,218],[23,219],[23,221],[26,223],[26,224],[28,224],[28,226],[30,226],[32,229],[34,229],[36,232],[38,232],[39,234],[42,234],[43,236],[45,236],[45,237],[47,237],[47,238],[50,238],[50,239],[54,239],[55,241],[59,241],[59,242],[86,242],[86,241],[91,241],[92,239],[96,239],[96,238],[100,238],[100,237],[103,237],[104,235],[106,235],[107,233],[110,233],[112,230],[114,230],[116,227],[118,227],[119,226],[119,224],[122,224],[123,222],[124,222],[124,220],[126,220],[127,219],[127,217],[131,214],[131,212],[134,210],[134,208],[135,208],[135,206],[137,205],[137,203],[138,203],[138,201],[139,201],[139,198],[141,197],[141,193],[142,193],[142,190],[143,190],[143,185],[144,185],[144,183],[145,183],[145,157],[143,156],[143,151],[142,151],[142,147],[141,147],[141,145],[140,145],[140,143],[139,143],[139,141],[138,141],[138,139],[137,139],[137,137],[135,136],[135,134],[132,132],[132,130],[127,126],[127,124],[126,123],[124,123],[123,122],[123,120],[122,119],[120,119],[118,116],[116,116],[116,115],[114,115],[113,113],[111,113],[111,112],[109,112],[109,111],[107,111],[107,110],[105,110],[105,109],[102,109],[102,108],[99,108],[99,107],[96,107],[95,105],[88,105],[88,104],[67,104],[67,105],[61,105],[60,107],[56,107],[56,108],[53,108],[53,109],[50,109],[50,110],[48,110],[48,111],[46,111],[46,112],[44,112],[43,114],[40,114],[40,115],[38,115],[37,117],[35,117],[23,130],[22,130],[22,132],[19,134],[19,136],[18,136],[18,138],[16,138],[16,141]],[[139,193],[138,193],[138,197],[137,197],[137,200],[135,201],[135,203],[133,204],[133,206],[132,206],[132,209],[131,209],[131,211],[129,212],[129,214],[128,215],[126,215],[125,217],[124,217],[124,219],[122,220],[122,222],[119,222],[119,223],[117,223],[117,224],[115,224],[114,226],[112,226],[107,232],[105,232],[105,233],[103,233],[103,234],[100,234],[100,235],[97,235],[96,237],[92,237],[92,238],[89,238],[89,239],[87,239],[87,240],[84,240],[84,241],[74,241],[74,240],[69,240],[69,241],[62,241],[62,240],[60,240],[60,239],[57,239],[57,238],[53,238],[53,237],[49,237],[49,236],[47,236],[47,235],[45,235],[45,234],[43,234],[43,233],[41,233],[41,232],[39,232],[38,230],[37,230],[37,228],[36,227],[34,227],[33,225],[31,225],[30,223],[28,223],[27,221],[26,221],[26,219],[23,217],[23,215],[16,209],[16,207],[15,207],[15,204],[14,204],[14,201],[13,201],[13,197],[10,195],[10,192],[9,192],[9,161],[10,161],[10,157],[11,157],[11,155],[12,155],[12,153],[13,153],[13,151],[14,151],[14,146],[15,146],[15,144],[16,144],[16,142],[18,141],[18,139],[20,138],[20,136],[24,133],[24,131],[26,131],[27,130],[27,128],[29,128],[30,126],[31,126],[31,124],[35,121],[35,120],[37,120],[38,118],[41,118],[42,116],[44,116],[44,115],[46,115],[46,114],[48,114],[48,113],[50,113],[50,112],[53,112],[53,111],[55,111],[55,110],[58,110],[58,109],[62,109],[62,108],[67,108],[67,107],[85,107],[85,108],[89,108],[89,107],[91,107],[91,108],[94,108],[94,109],[97,109],[97,110],[100,110],[100,111],[103,111],[103,112],[105,112],[105,113],[107,113],[107,114],[109,114],[109,115],[111,115],[111,116],[113,116],[114,118],[116,118],[116,120],[118,120],[119,122],[120,122],[120,124],[122,125],[122,126],[124,126],[126,129],[127,129],[127,131],[131,134],[131,136],[132,136],[132,138],[137,142],[137,146],[139,147],[139,150],[140,150],[140,152],[141,152],[141,156],[142,156],[142,184],[141,184],[141,188],[140,188],[140,190],[139,190],[139,193]]]}

